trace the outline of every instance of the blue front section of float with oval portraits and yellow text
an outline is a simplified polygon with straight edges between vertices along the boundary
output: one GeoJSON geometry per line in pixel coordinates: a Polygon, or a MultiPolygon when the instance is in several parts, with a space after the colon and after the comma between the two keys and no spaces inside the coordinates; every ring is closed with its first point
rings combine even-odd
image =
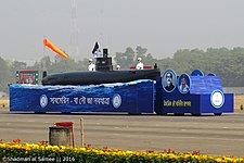
{"type": "Polygon", "coordinates": [[[192,74],[189,76],[183,73],[177,76],[172,70],[167,70],[163,77],[157,79],[157,114],[233,113],[233,93],[223,93],[219,76],[192,74]]]}

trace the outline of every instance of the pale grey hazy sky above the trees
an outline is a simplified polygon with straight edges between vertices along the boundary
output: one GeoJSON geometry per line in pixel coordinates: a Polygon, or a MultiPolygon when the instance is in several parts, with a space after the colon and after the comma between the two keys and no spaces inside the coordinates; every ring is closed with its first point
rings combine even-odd
{"type": "MultiPolygon", "coordinates": [[[[0,57],[39,61],[55,53],[43,38],[68,53],[72,0],[0,0],[0,57]]],[[[108,53],[137,46],[153,58],[179,49],[244,46],[243,0],[76,0],[79,55],[91,58],[94,42],[108,53]]],[[[74,24],[73,24],[74,25],[74,24]]]]}

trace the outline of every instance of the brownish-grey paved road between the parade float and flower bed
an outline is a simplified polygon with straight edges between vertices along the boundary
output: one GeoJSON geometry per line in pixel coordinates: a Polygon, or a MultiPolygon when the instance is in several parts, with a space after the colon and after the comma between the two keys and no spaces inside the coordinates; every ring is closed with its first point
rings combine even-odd
{"type": "Polygon", "coordinates": [[[75,145],[80,146],[80,118],[85,121],[85,142],[92,147],[123,150],[174,149],[210,155],[244,156],[244,112],[221,116],[158,116],[123,114],[33,114],[0,110],[0,138],[26,142],[49,140],[55,122],[75,124],[75,145]]]}

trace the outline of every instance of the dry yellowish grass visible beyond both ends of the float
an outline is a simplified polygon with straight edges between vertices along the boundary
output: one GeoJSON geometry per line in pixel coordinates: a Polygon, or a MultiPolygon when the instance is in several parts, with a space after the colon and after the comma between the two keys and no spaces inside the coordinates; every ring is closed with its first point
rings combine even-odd
{"type": "MultiPolygon", "coordinates": [[[[9,97],[0,98],[0,109],[9,106],[10,106],[9,97]]],[[[234,96],[234,111],[235,112],[244,111],[244,95],[234,96]]]]}

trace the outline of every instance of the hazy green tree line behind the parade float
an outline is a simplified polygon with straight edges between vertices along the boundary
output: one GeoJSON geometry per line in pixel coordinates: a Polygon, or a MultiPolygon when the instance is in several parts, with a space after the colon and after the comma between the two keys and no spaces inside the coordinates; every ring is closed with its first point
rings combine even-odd
{"type": "MultiPolygon", "coordinates": [[[[147,52],[146,48],[138,46],[136,49],[126,48],[125,52],[116,52],[114,65],[119,64],[123,70],[137,64],[137,58],[142,58],[146,65],[155,63],[164,73],[166,70],[174,70],[178,75],[181,73],[191,74],[198,68],[205,75],[213,73],[220,76],[223,87],[243,87],[244,86],[244,48],[208,48],[205,51],[201,49],[181,49],[176,51],[172,57],[166,59],[155,59],[147,52]]],[[[28,66],[25,62],[9,62],[0,57],[0,91],[8,92],[8,84],[16,83],[16,71],[33,68],[38,70],[40,74],[47,71],[48,74],[62,73],[69,71],[87,71],[88,59],[75,61],[72,58],[63,59],[56,55],[54,61],[50,57],[43,57],[34,65],[28,66]]]]}

